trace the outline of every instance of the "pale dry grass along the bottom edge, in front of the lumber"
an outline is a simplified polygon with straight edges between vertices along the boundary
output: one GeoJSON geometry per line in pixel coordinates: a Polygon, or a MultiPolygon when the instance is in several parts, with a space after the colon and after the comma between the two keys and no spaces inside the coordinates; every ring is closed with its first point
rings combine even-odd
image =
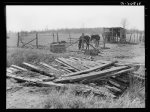
{"type": "Polygon", "coordinates": [[[69,88],[68,90],[57,91],[53,90],[49,93],[47,100],[45,101],[44,108],[144,108],[144,99],[137,96],[136,92],[133,92],[132,88],[124,96],[119,99],[113,99],[110,97],[97,97],[94,94],[76,95],[70,90],[75,88],[69,88]],[[133,97],[134,96],[134,97],[133,97]]]}

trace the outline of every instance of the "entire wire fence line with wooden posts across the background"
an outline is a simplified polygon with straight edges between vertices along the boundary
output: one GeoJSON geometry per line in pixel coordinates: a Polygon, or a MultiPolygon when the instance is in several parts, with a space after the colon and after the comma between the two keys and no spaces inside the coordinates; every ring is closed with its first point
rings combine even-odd
{"type": "MultiPolygon", "coordinates": [[[[90,34],[86,34],[90,35],[90,34]]],[[[101,39],[100,43],[103,43],[102,34],[99,34],[101,39]]],[[[77,46],[77,40],[81,36],[80,33],[17,33],[14,35],[8,35],[10,38],[7,41],[8,45],[15,43],[17,47],[50,47],[51,43],[65,41],[67,46],[77,46]],[[13,37],[13,38],[11,38],[13,37]]],[[[126,41],[131,43],[140,43],[144,41],[144,34],[126,34],[126,41]]],[[[107,42],[106,42],[107,43],[107,42]]]]}

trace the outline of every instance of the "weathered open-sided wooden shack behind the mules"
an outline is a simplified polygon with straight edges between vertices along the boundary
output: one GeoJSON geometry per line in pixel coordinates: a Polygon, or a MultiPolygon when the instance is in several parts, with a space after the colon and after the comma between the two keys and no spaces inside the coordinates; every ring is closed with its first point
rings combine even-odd
{"type": "Polygon", "coordinates": [[[123,43],[126,42],[126,29],[122,27],[111,27],[103,29],[107,42],[123,43]]]}

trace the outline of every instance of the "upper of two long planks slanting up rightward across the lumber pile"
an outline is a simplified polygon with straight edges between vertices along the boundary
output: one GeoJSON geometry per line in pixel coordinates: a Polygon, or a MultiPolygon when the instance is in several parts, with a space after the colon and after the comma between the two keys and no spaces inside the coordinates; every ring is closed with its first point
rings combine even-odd
{"type": "Polygon", "coordinates": [[[67,77],[67,76],[74,76],[74,75],[80,75],[80,74],[92,72],[92,71],[95,71],[97,69],[100,70],[100,69],[103,69],[103,68],[108,67],[110,65],[113,65],[114,63],[117,63],[117,61],[111,62],[109,64],[103,64],[103,65],[100,65],[100,66],[92,67],[92,68],[87,69],[87,70],[83,70],[83,71],[78,71],[78,72],[75,72],[75,73],[67,74],[67,75],[64,75],[64,76],[65,77],[67,77]]]}

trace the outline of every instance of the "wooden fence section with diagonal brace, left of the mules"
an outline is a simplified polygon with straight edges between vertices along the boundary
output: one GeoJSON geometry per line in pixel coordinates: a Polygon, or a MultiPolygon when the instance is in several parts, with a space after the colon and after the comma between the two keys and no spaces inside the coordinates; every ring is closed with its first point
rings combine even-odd
{"type": "MultiPolygon", "coordinates": [[[[76,41],[75,38],[71,38],[71,34],[61,34],[61,33],[29,33],[29,34],[17,34],[17,47],[29,47],[34,46],[39,48],[39,46],[50,46],[51,43],[66,41],[67,43],[72,43],[76,41]],[[68,38],[70,40],[68,41],[68,38]]],[[[78,38],[77,38],[78,39],[78,38]]]]}

